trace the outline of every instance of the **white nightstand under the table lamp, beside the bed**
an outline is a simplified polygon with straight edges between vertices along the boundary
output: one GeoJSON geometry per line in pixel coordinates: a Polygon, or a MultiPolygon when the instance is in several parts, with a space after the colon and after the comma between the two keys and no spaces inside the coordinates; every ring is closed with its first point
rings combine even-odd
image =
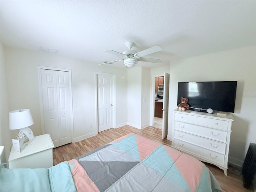
{"type": "Polygon", "coordinates": [[[52,148],[50,134],[36,136],[20,153],[12,147],[9,168],[48,168],[53,165],[52,148]]]}

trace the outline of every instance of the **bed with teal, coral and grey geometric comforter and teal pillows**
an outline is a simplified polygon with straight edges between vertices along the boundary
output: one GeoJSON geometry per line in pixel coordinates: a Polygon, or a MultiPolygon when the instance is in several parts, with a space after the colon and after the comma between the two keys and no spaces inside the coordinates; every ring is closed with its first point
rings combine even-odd
{"type": "Polygon", "coordinates": [[[8,169],[1,164],[0,190],[222,191],[216,178],[202,162],[134,133],[47,169],[8,169]]]}

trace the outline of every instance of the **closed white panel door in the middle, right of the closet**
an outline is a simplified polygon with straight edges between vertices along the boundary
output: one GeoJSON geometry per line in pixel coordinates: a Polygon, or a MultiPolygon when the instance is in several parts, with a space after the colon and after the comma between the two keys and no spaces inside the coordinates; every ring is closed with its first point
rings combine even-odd
{"type": "Polygon", "coordinates": [[[98,132],[113,128],[113,75],[98,74],[98,132]]]}

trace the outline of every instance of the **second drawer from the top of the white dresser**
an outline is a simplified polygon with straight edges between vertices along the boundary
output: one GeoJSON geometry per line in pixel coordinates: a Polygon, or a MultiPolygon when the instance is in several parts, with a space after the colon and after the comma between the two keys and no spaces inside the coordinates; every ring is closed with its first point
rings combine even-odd
{"type": "Polygon", "coordinates": [[[226,143],[227,132],[224,130],[216,130],[213,128],[202,127],[194,124],[174,121],[174,130],[181,130],[198,136],[210,138],[226,143]]]}

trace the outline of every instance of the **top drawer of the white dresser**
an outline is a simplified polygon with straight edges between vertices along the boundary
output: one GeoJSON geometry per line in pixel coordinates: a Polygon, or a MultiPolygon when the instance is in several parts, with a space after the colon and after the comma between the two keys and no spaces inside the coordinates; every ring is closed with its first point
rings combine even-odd
{"type": "Polygon", "coordinates": [[[200,116],[194,116],[194,115],[188,115],[188,114],[180,114],[180,113],[175,113],[174,119],[196,123],[202,126],[210,126],[210,127],[221,128],[225,130],[228,129],[228,121],[225,121],[225,120],[212,119],[212,118],[206,118],[206,117],[200,117],[200,116]]]}

